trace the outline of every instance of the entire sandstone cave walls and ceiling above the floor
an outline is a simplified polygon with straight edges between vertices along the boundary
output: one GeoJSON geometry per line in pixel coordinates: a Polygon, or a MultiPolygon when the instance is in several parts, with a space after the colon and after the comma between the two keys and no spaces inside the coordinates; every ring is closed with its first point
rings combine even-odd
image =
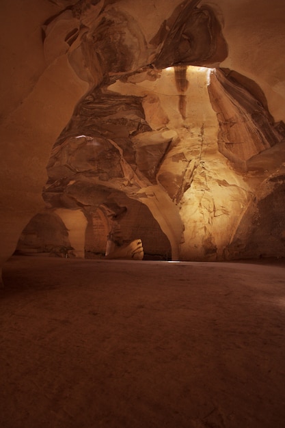
{"type": "Polygon", "coordinates": [[[4,3],[2,262],[36,213],[19,249],[285,256],[281,0],[4,3]]]}

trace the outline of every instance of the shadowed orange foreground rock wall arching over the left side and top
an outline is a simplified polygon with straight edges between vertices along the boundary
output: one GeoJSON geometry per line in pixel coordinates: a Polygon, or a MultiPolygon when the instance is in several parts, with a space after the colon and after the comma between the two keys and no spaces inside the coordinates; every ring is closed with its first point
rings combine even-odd
{"type": "MultiPolygon", "coordinates": [[[[159,58],[171,59],[174,51],[175,61],[181,64],[222,66],[252,79],[264,92],[274,122],[285,120],[284,12],[283,0],[273,0],[270,4],[261,0],[258,5],[254,0],[183,3],[121,0],[100,1],[90,7],[88,1],[42,0],[39,4],[36,0],[25,3],[3,0],[0,14],[1,263],[16,248],[29,219],[44,208],[41,193],[53,144],[70,121],[81,97],[93,85],[101,85],[106,75],[116,81],[118,73],[134,72],[156,61],[160,64],[159,58]],[[183,11],[189,13],[185,34],[180,27],[183,11]],[[106,27],[103,16],[112,25],[106,27]],[[120,28],[124,31],[120,32],[120,28]],[[217,36],[210,37],[211,31],[217,36]],[[208,36],[203,38],[205,34],[208,36]],[[199,43],[195,44],[198,57],[191,57],[188,49],[192,36],[193,40],[205,40],[205,43],[214,40],[215,46],[207,45],[205,51],[199,43]],[[164,45],[163,40],[166,40],[164,45]],[[172,45],[172,42],[175,43],[172,45]],[[93,43],[97,51],[92,49],[93,43]],[[108,46],[114,43],[121,49],[108,51],[108,46]],[[165,52],[165,56],[159,56],[161,52],[165,52]]],[[[185,109],[185,98],[181,93],[179,96],[178,113],[181,113],[185,109]]],[[[146,118],[152,116],[152,130],[157,129],[159,123],[167,127],[167,115],[155,107],[156,97],[144,98],[148,104],[146,118]],[[151,110],[151,106],[154,109],[151,110]]],[[[259,181],[249,178],[250,191],[254,193],[255,186],[265,178],[260,176],[259,181]]],[[[144,202],[159,220],[157,202],[154,204],[152,197],[144,202]]],[[[176,256],[182,230],[177,215],[178,211],[161,220],[162,230],[168,233],[172,248],[176,247],[176,256]]],[[[182,223],[184,220],[182,218],[182,223]]]]}

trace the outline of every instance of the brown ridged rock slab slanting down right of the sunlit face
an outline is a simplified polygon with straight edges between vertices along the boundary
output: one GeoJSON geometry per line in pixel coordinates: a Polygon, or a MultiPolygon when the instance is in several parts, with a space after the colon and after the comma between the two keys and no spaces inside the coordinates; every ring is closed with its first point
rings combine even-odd
{"type": "Polygon", "coordinates": [[[239,75],[229,70],[211,73],[209,93],[220,124],[219,150],[232,161],[246,161],[282,139],[262,105],[263,94],[253,96],[251,82],[243,79],[242,83],[239,75]],[[248,90],[246,84],[250,85],[248,90]]]}

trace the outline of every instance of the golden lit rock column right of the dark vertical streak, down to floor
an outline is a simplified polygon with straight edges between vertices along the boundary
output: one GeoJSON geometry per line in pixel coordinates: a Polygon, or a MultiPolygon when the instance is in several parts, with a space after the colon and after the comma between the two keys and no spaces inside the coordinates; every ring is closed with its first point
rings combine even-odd
{"type": "MultiPolygon", "coordinates": [[[[179,254],[186,260],[222,258],[247,204],[247,185],[229,168],[217,145],[219,126],[208,99],[210,72],[187,70],[187,120],[180,115],[169,122],[179,139],[165,156],[158,176],[180,207],[184,242],[179,254]]],[[[174,103],[171,107],[178,112],[177,98],[174,103]]]]}

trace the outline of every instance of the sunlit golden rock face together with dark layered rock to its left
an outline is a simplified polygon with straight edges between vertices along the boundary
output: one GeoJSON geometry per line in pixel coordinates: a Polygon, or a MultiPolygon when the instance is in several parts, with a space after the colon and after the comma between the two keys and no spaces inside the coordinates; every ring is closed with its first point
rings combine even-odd
{"type": "Polygon", "coordinates": [[[81,206],[87,216],[114,198],[132,213],[137,200],[157,220],[174,258],[221,259],[249,187],[219,152],[208,96],[214,73],[149,68],[94,90],[55,144],[44,200],[81,206]]]}

